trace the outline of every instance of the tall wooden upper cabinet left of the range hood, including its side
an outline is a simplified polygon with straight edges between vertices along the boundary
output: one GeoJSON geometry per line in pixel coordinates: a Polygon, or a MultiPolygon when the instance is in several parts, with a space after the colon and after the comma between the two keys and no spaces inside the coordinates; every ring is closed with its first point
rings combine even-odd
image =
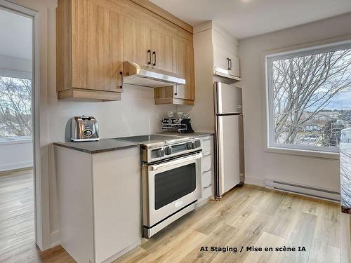
{"type": "Polygon", "coordinates": [[[121,99],[121,16],[91,0],[59,0],[58,98],[121,99]]]}

